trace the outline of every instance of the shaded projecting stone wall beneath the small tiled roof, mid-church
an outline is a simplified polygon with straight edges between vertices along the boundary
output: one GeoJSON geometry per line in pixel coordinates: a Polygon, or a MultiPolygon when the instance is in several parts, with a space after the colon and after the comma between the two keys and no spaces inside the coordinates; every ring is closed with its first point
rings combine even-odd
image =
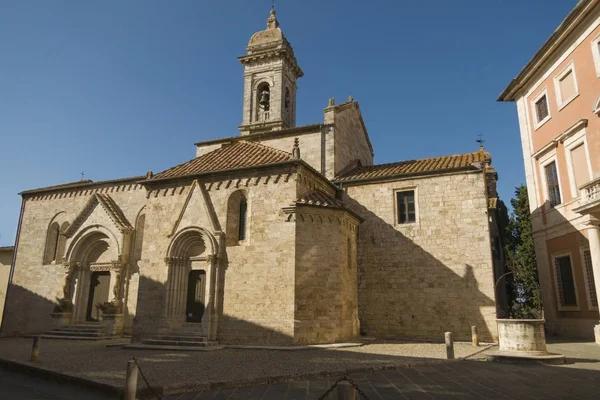
{"type": "Polygon", "coordinates": [[[294,342],[355,339],[357,221],[343,211],[298,206],[296,225],[294,342]]]}

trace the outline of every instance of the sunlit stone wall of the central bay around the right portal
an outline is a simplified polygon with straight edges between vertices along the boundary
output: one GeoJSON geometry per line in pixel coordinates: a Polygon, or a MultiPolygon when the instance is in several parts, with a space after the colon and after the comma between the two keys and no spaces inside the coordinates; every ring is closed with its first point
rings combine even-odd
{"type": "MultiPolygon", "coordinates": [[[[163,322],[169,279],[164,259],[171,242],[167,233],[172,236],[186,227],[200,226],[215,237],[223,232],[226,239],[228,199],[243,190],[248,199],[247,238],[227,246],[219,258],[218,339],[222,343],[291,343],[295,226],[285,221],[281,208],[294,200],[295,184],[288,169],[212,177],[184,187],[153,190],[144,232],[140,282],[144,297],[138,306],[135,337],[147,337],[157,327],[172,328],[163,322]],[[199,185],[208,193],[208,204],[199,185]]],[[[227,242],[223,240],[221,245],[227,242]]]]}

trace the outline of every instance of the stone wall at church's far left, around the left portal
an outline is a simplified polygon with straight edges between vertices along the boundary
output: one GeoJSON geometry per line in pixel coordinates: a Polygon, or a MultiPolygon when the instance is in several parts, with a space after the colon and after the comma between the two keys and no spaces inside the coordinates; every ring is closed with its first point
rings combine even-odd
{"type": "MultiPolygon", "coordinates": [[[[130,222],[136,220],[146,201],[145,190],[133,182],[25,196],[15,272],[8,289],[2,335],[39,333],[53,327],[50,313],[63,297],[65,272],[60,262],[43,265],[47,231],[54,221],[61,225],[72,222],[94,192],[106,193],[113,198],[130,222]]],[[[114,226],[107,228],[118,234],[114,226]]],[[[130,305],[133,316],[135,301],[131,301],[130,305]]]]}

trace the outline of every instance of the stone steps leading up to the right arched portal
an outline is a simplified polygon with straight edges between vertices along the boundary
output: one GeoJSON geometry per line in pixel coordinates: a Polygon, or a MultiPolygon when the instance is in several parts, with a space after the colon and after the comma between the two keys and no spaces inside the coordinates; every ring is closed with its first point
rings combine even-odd
{"type": "Polygon", "coordinates": [[[156,350],[187,350],[210,351],[221,347],[218,342],[208,341],[202,331],[196,327],[184,327],[164,335],[157,335],[141,343],[133,343],[124,348],[128,349],[156,349],[156,350]]]}

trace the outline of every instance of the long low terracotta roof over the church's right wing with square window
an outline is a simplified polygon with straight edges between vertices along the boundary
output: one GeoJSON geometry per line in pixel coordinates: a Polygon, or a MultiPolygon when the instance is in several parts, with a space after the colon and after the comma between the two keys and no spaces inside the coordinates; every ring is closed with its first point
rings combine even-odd
{"type": "Polygon", "coordinates": [[[399,177],[402,175],[443,173],[459,169],[475,168],[473,163],[483,161],[491,161],[490,153],[478,151],[451,156],[422,158],[420,160],[400,161],[391,164],[358,166],[339,177],[336,177],[335,182],[375,180],[399,177]]]}

